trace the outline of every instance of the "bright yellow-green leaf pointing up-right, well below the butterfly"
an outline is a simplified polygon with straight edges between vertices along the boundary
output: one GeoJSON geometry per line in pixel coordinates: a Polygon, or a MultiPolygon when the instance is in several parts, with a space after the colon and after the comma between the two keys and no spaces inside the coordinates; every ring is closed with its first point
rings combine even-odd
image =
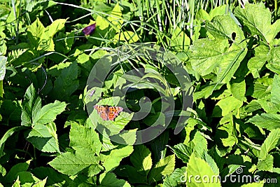
{"type": "Polygon", "coordinates": [[[110,151],[109,155],[102,154],[102,160],[104,161],[103,166],[106,172],[111,171],[118,165],[120,165],[120,160],[129,156],[133,151],[133,146],[125,146],[123,148],[116,148],[110,151]]]}

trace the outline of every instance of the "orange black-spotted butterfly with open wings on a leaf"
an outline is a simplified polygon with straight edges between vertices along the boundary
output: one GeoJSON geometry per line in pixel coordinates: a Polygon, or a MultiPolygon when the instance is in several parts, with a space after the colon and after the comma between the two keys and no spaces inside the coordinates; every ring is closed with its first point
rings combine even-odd
{"type": "Polygon", "coordinates": [[[114,120],[118,116],[118,113],[123,111],[123,107],[120,106],[94,105],[93,107],[103,120],[114,120]]]}

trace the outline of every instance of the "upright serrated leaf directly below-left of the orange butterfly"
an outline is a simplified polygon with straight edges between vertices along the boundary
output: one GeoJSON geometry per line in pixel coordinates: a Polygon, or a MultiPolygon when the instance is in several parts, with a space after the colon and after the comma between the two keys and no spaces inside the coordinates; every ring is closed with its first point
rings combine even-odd
{"type": "Polygon", "coordinates": [[[102,149],[99,134],[94,130],[78,125],[78,123],[71,123],[69,138],[70,146],[85,155],[94,153],[99,155],[102,149]]]}

